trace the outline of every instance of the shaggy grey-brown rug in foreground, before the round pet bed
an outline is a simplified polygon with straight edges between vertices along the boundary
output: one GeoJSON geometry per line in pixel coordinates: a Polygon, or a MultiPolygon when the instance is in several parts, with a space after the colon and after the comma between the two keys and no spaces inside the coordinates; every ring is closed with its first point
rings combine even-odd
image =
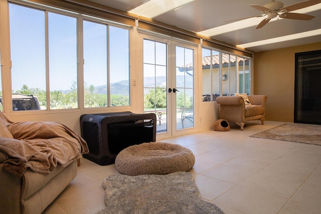
{"type": "Polygon", "coordinates": [[[189,172],[167,175],[113,174],[103,180],[106,208],[102,213],[215,213],[224,212],[203,200],[189,172]]]}

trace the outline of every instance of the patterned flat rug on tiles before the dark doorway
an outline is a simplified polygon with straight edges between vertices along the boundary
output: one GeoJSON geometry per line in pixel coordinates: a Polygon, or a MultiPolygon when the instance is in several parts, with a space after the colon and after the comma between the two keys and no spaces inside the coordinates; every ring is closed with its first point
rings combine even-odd
{"type": "Polygon", "coordinates": [[[250,137],[321,145],[321,125],[288,123],[250,137]]]}

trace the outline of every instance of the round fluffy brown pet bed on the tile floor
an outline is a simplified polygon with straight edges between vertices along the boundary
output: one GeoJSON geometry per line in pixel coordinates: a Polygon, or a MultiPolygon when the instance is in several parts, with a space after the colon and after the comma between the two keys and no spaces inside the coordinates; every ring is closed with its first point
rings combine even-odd
{"type": "Polygon", "coordinates": [[[190,149],[165,142],[129,146],[120,151],[115,159],[117,171],[132,176],[189,171],[194,163],[195,156],[190,149]]]}

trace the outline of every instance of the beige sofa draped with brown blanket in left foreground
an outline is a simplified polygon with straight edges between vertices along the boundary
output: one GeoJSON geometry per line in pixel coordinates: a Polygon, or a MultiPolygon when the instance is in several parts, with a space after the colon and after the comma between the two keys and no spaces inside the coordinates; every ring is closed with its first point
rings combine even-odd
{"type": "Polygon", "coordinates": [[[87,152],[86,142],[63,124],[14,123],[0,112],[0,212],[43,212],[87,152]]]}

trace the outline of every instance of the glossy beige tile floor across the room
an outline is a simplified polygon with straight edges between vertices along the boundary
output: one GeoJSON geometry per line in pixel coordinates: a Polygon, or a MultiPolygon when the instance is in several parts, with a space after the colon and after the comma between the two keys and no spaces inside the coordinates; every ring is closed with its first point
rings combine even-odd
{"type": "MultiPolygon", "coordinates": [[[[163,139],[190,148],[201,197],[226,214],[321,213],[321,146],[249,137],[282,122],[249,122],[244,131],[205,131],[163,139]]],[[[81,159],[78,174],[44,213],[103,209],[103,178],[118,173],[81,159]]]]}

